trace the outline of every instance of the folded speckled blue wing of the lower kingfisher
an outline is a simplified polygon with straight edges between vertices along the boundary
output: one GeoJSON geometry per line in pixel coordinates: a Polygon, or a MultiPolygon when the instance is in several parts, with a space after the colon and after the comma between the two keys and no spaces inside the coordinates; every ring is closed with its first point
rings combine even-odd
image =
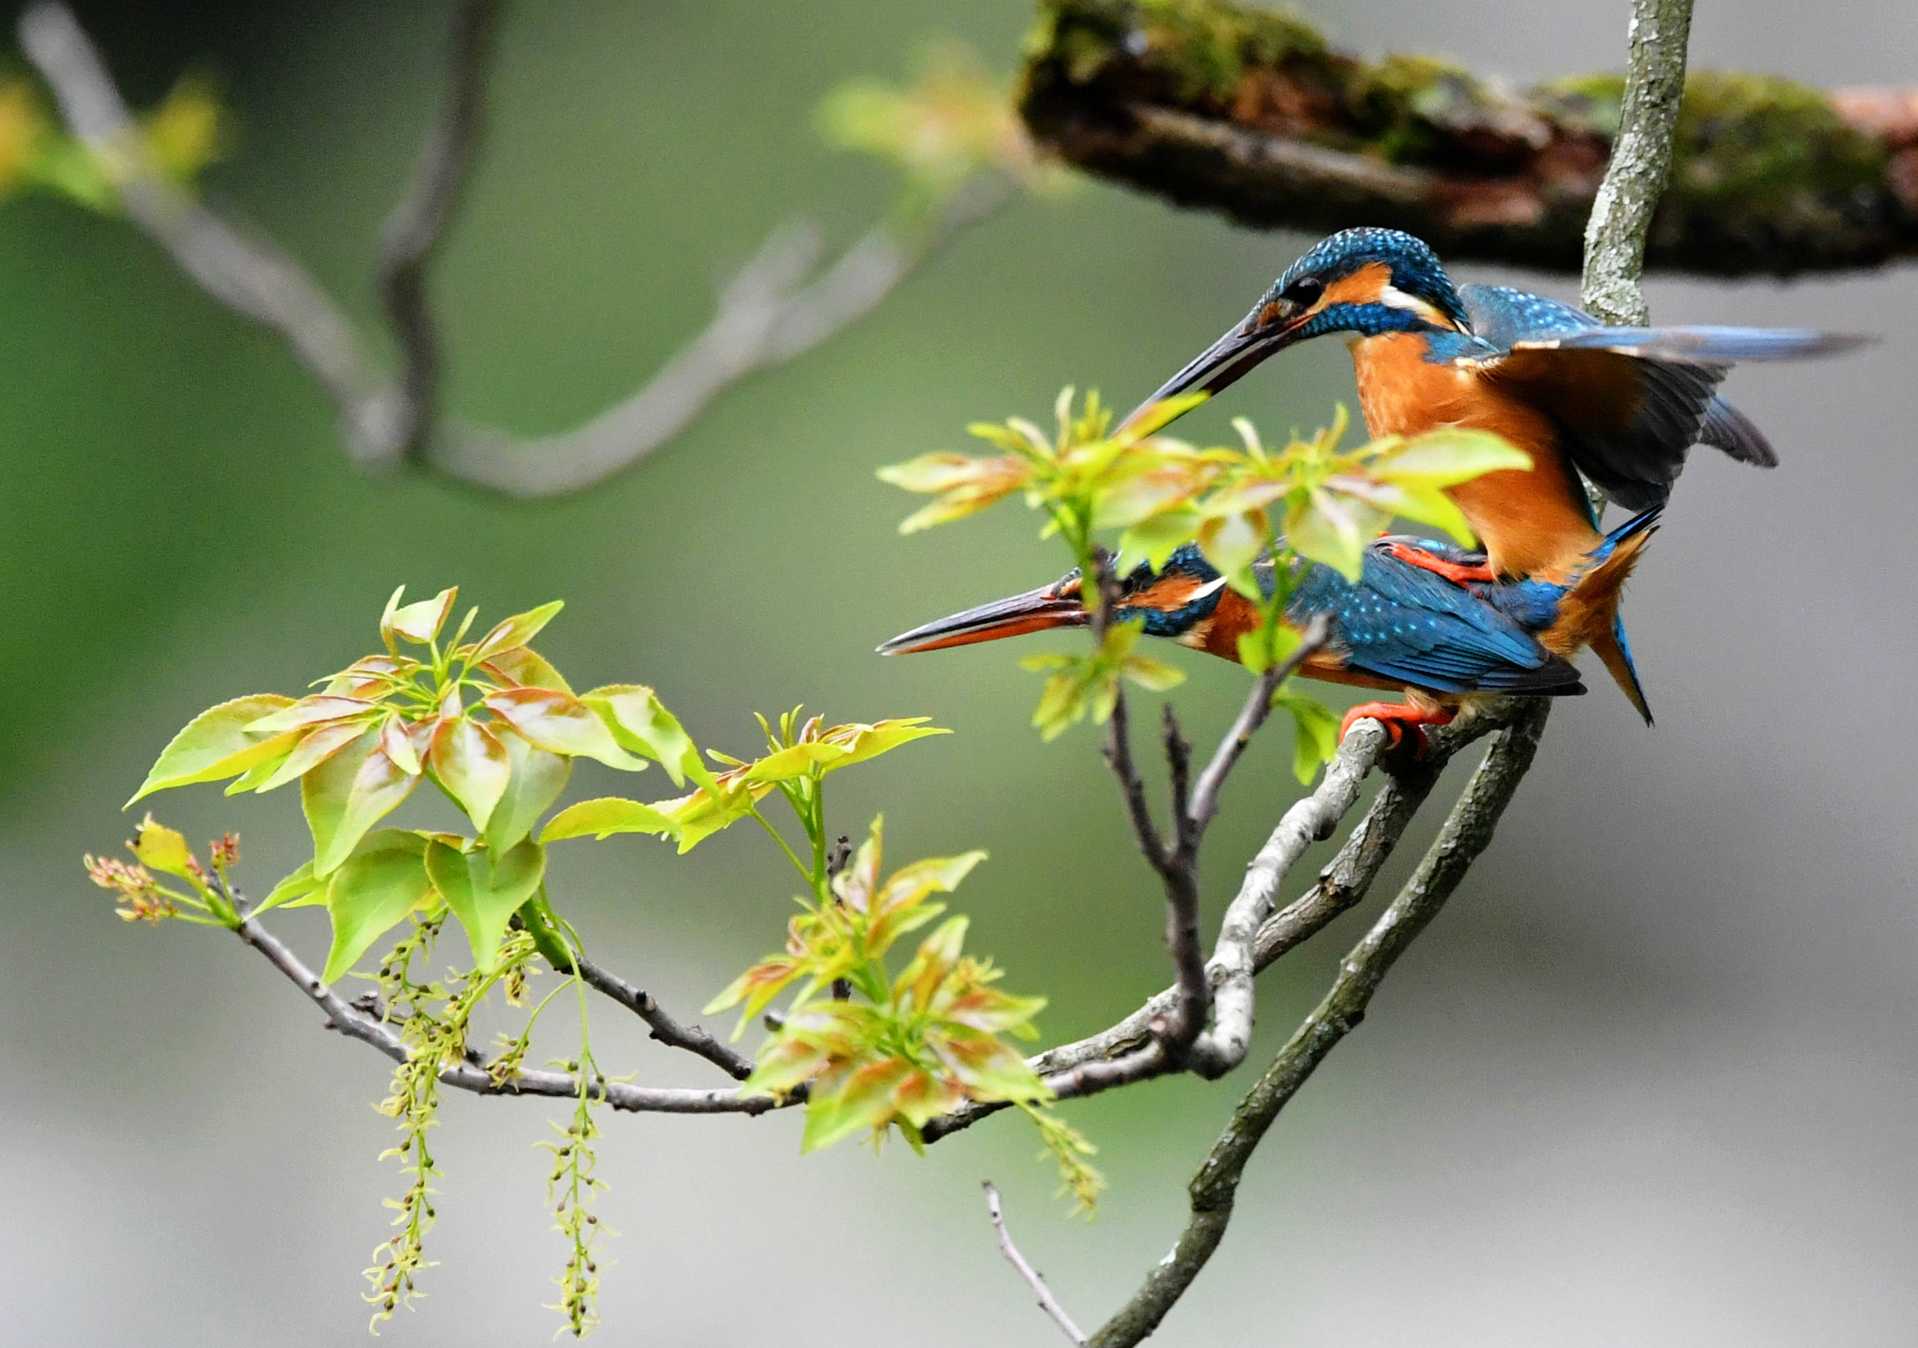
{"type": "Polygon", "coordinates": [[[1352,669],[1433,692],[1584,692],[1579,671],[1511,616],[1462,585],[1400,562],[1375,543],[1358,585],[1310,566],[1287,602],[1293,621],[1331,617],[1331,646],[1352,669]]]}

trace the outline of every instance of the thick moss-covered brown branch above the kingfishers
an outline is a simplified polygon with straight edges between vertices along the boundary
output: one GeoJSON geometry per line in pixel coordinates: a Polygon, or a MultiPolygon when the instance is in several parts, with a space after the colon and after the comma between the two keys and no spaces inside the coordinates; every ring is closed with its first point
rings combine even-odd
{"type": "MultiPolygon", "coordinates": [[[[1258,228],[1396,226],[1450,259],[1579,270],[1621,136],[1617,75],[1509,90],[1335,52],[1229,0],[1041,0],[1020,113],[1095,174],[1258,228]]],[[[1724,276],[1918,251],[1918,90],[1684,84],[1648,265],[1724,276]]]]}

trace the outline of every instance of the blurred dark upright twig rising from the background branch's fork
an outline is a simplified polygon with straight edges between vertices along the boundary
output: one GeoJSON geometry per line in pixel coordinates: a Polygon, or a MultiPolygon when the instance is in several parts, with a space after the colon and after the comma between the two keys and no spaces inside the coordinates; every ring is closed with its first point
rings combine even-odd
{"type": "Polygon", "coordinates": [[[393,454],[416,458],[433,431],[439,399],[439,330],[426,268],[458,209],[485,128],[485,84],[504,0],[460,0],[453,12],[447,104],[420,151],[407,196],[386,221],[380,301],[399,343],[393,454]]]}

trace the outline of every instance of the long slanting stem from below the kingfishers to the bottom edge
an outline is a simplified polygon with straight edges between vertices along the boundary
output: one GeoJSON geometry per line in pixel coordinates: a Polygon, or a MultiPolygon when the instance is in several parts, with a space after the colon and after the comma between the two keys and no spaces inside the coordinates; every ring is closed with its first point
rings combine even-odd
{"type": "Polygon", "coordinates": [[[1233,1110],[1231,1122],[1193,1177],[1191,1220],[1180,1233],[1178,1244],[1172,1246],[1172,1254],[1160,1260],[1137,1294],[1099,1327],[1089,1340],[1091,1344],[1097,1348],[1137,1344],[1158,1327],[1174,1302],[1199,1277],[1231,1221],[1239,1177],[1245,1174],[1252,1150],[1285,1103],[1325,1060],[1325,1055],[1364,1020],[1366,1007],[1387,970],[1437,917],[1473,861],[1490,844],[1498,817],[1511,803],[1519,780],[1532,763],[1550,711],[1550,700],[1532,698],[1521,709],[1519,721],[1500,732],[1417,872],[1366,932],[1366,938],[1339,963],[1339,976],[1331,989],[1300,1022],[1272,1066],[1233,1110]]]}

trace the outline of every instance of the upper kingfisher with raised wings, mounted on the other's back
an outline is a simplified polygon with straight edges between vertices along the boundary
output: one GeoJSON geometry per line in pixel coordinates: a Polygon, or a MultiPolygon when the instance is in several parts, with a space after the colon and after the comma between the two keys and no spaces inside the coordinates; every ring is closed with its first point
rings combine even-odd
{"type": "MultiPolygon", "coordinates": [[[[1492,472],[1446,489],[1485,545],[1483,560],[1414,552],[1406,560],[1462,583],[1554,585],[1565,585],[1602,539],[1580,474],[1626,510],[1646,510],[1665,502],[1692,445],[1772,468],[1770,443],[1717,395],[1719,382],[1736,360],[1832,355],[1864,341],[1803,328],[1607,328],[1544,295],[1454,286],[1421,240],[1358,228],[1308,249],[1243,322],[1128,422],[1160,399],[1218,393],[1266,357],[1333,332],[1350,334],[1373,437],[1467,426],[1532,456],[1531,472],[1492,472]]],[[[1617,587],[1607,604],[1584,616],[1580,644],[1600,654],[1649,721],[1617,621],[1617,587]]]]}

